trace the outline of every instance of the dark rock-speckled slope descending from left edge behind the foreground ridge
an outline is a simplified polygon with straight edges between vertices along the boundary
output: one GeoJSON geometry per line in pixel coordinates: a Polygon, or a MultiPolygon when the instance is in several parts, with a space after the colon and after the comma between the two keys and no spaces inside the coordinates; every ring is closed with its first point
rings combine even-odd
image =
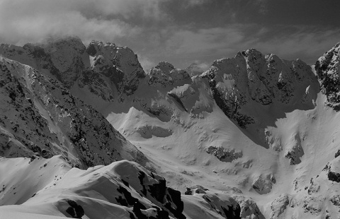
{"type": "Polygon", "coordinates": [[[62,155],[86,167],[145,156],[58,81],[1,58],[1,156],[62,155]]]}

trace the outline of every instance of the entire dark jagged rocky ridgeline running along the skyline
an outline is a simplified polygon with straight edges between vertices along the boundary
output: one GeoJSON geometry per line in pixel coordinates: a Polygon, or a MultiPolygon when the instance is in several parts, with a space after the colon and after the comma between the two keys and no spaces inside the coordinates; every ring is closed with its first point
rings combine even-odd
{"type": "MultiPolygon", "coordinates": [[[[256,49],[248,49],[234,58],[214,61],[208,71],[197,77],[208,78],[210,92],[218,107],[240,127],[246,128],[259,120],[249,109],[254,104],[260,107],[282,105],[290,109],[312,107],[319,84],[327,94],[328,105],[337,109],[338,50],[339,45],[317,61],[317,76],[300,59],[286,61],[274,54],[263,55],[256,49]]],[[[147,74],[137,55],[128,47],[98,41],[85,47],[77,37],[23,47],[1,45],[0,54],[56,78],[76,96],[79,92],[75,90],[80,89],[106,102],[124,102],[142,83],[152,87],[160,85],[170,91],[180,85],[192,84],[190,75],[199,75],[196,65],[188,68],[188,71],[192,70],[189,74],[166,62],[160,62],[147,74]]],[[[181,99],[175,96],[171,94],[176,100],[181,99]]]]}

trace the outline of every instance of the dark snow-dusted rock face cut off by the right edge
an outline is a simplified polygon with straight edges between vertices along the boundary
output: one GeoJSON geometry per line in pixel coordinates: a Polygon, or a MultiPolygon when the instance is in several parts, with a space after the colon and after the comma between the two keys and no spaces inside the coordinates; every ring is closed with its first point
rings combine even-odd
{"type": "Polygon", "coordinates": [[[339,59],[340,42],[319,57],[314,66],[322,93],[327,96],[326,104],[336,111],[340,110],[339,59]]]}

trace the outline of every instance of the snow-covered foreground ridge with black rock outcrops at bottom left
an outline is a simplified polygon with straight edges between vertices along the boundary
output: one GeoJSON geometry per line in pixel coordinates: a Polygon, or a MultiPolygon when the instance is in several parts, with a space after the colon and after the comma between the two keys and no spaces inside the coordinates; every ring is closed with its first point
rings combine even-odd
{"type": "Polygon", "coordinates": [[[182,200],[163,177],[127,160],[79,170],[61,156],[1,158],[0,174],[1,218],[239,218],[231,197],[202,191],[182,200]]]}

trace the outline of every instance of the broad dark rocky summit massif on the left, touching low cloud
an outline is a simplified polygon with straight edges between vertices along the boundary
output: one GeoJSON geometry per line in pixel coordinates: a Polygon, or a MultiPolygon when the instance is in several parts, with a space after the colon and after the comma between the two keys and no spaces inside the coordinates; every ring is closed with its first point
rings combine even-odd
{"type": "Polygon", "coordinates": [[[79,87],[106,101],[132,95],[146,76],[130,48],[99,41],[91,41],[85,47],[79,37],[50,39],[23,47],[2,44],[0,54],[57,78],[72,92],[72,88],[79,87]]]}

